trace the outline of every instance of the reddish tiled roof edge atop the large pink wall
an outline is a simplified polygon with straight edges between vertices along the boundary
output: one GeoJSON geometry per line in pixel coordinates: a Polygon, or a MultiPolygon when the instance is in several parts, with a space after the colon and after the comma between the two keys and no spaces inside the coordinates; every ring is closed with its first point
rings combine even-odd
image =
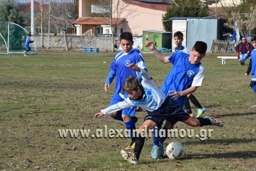
{"type": "Polygon", "coordinates": [[[155,8],[158,10],[163,10],[166,11],[166,8],[168,6],[172,6],[171,4],[168,3],[157,3],[157,2],[142,2],[142,1],[134,1],[134,0],[122,0],[126,3],[131,3],[131,4],[136,4],[138,6],[144,6],[144,7],[149,7],[149,8],[155,8]]]}

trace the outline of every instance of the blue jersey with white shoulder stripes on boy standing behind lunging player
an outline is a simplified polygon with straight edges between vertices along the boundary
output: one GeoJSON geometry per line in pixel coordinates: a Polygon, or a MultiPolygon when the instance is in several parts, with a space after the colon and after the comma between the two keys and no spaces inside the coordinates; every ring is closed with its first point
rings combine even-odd
{"type": "Polygon", "coordinates": [[[139,68],[146,69],[145,61],[139,50],[132,48],[128,53],[123,51],[118,52],[113,59],[109,70],[116,73],[116,90],[115,93],[125,94],[122,90],[122,85],[128,76],[137,77],[137,73],[134,70],[129,69],[127,66],[134,63],[139,68]]]}

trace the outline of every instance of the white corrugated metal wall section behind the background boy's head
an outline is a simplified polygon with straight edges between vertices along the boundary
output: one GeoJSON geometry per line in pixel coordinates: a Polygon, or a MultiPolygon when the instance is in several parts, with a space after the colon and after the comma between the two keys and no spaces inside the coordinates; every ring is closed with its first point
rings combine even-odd
{"type": "Polygon", "coordinates": [[[173,35],[175,32],[181,31],[183,33],[183,41],[182,44],[186,46],[186,37],[187,37],[187,20],[173,20],[172,21],[172,52],[174,52],[174,49],[176,47],[173,35]]]}

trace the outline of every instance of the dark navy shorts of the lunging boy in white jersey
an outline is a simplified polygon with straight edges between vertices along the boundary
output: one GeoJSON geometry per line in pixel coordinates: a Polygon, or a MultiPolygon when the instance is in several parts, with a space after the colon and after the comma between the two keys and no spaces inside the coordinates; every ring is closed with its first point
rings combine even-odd
{"type": "Polygon", "coordinates": [[[146,120],[152,120],[157,125],[162,124],[164,120],[169,121],[172,125],[178,121],[185,121],[190,116],[186,113],[181,106],[170,97],[167,97],[164,103],[155,111],[149,112],[144,118],[146,120]]]}

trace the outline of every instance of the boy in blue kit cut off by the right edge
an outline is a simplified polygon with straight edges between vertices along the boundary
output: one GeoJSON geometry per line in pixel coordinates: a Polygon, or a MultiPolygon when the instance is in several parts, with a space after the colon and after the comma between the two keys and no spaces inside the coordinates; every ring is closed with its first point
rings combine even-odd
{"type": "MultiPolygon", "coordinates": [[[[250,82],[250,87],[252,87],[255,95],[256,95],[256,36],[252,37],[252,44],[254,49],[251,51],[251,59],[250,63],[247,69],[247,72],[245,73],[245,76],[248,77],[250,72],[252,72],[253,78],[250,82]]],[[[256,107],[256,105],[251,106],[252,108],[256,107]]]]}

